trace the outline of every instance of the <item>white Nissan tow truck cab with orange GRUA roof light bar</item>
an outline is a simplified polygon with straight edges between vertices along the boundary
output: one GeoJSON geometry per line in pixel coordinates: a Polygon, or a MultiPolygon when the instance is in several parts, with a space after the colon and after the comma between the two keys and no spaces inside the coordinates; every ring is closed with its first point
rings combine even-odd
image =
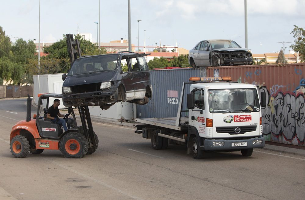
{"type": "Polygon", "coordinates": [[[201,150],[264,147],[264,92],[260,102],[257,86],[230,82],[231,77],[191,77],[190,81],[198,82],[190,85],[187,94],[189,133],[198,133],[201,150]]]}

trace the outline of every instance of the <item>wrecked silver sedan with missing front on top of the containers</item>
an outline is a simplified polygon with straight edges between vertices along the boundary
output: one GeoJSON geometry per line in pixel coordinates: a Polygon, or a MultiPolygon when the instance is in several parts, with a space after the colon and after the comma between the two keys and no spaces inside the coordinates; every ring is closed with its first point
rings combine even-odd
{"type": "Polygon", "coordinates": [[[202,40],[189,51],[188,62],[193,68],[253,64],[251,51],[233,40],[202,40]]]}

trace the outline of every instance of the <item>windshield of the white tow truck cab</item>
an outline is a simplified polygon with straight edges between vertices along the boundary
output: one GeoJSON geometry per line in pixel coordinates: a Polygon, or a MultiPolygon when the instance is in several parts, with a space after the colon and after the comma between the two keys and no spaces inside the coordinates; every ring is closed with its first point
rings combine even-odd
{"type": "Polygon", "coordinates": [[[255,88],[210,89],[208,101],[211,113],[260,111],[260,102],[255,88]]]}

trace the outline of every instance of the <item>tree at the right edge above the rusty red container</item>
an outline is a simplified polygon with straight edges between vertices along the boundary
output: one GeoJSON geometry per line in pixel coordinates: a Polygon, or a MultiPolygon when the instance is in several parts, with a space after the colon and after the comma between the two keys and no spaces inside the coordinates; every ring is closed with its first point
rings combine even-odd
{"type": "Polygon", "coordinates": [[[301,62],[305,61],[305,29],[300,28],[296,25],[294,25],[294,29],[291,32],[294,37],[294,43],[290,45],[289,47],[292,48],[295,52],[299,52],[299,56],[301,59],[301,62]]]}

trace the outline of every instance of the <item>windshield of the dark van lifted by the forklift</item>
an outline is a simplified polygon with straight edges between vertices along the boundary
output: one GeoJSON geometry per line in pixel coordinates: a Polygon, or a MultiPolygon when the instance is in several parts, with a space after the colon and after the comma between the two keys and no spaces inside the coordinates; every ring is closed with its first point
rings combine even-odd
{"type": "Polygon", "coordinates": [[[74,61],[68,76],[112,71],[117,67],[118,55],[90,56],[74,61]]]}

